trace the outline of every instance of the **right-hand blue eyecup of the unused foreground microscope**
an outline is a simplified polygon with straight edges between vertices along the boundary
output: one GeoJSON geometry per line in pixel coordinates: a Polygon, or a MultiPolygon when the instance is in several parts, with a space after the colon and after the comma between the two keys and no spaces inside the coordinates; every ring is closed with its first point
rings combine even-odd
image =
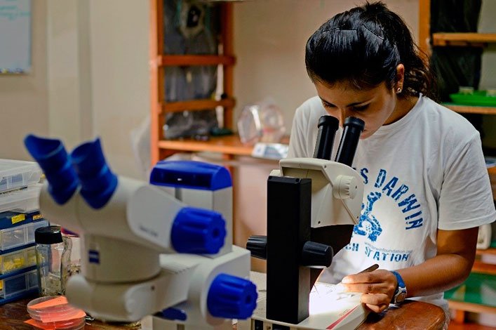
{"type": "Polygon", "coordinates": [[[72,164],[81,182],[81,196],[93,209],[105,206],[117,187],[117,176],[103,156],[100,139],[72,150],[72,164]]]}

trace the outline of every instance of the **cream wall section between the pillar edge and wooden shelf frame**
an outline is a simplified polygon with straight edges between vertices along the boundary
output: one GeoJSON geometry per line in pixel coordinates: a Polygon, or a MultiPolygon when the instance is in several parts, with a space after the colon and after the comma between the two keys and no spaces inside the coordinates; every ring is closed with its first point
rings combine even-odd
{"type": "Polygon", "coordinates": [[[93,129],[119,174],[141,178],[130,131],[149,113],[149,1],[91,0],[93,129]]]}

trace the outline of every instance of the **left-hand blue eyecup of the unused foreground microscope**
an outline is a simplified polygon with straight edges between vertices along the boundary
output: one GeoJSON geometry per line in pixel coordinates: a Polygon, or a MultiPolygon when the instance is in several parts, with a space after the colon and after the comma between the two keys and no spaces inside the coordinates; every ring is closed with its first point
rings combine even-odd
{"type": "Polygon", "coordinates": [[[65,204],[76,191],[79,180],[62,141],[26,136],[24,144],[48,181],[48,192],[57,204],[65,204]]]}

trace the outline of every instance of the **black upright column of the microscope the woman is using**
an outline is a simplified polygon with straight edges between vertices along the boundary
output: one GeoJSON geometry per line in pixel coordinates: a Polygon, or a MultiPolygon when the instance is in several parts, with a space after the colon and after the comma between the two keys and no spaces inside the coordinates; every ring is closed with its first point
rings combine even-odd
{"type": "Polygon", "coordinates": [[[301,266],[310,239],[311,180],[267,180],[267,319],[298,324],[309,316],[310,269],[301,266]]]}

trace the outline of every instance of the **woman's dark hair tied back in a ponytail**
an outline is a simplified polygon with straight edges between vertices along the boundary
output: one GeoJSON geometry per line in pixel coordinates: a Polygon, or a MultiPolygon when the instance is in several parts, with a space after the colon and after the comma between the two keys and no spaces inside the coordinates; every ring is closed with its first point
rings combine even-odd
{"type": "Polygon", "coordinates": [[[434,79],[420,57],[403,19],[382,2],[366,3],[335,15],[307,41],[305,64],[312,81],[346,81],[357,89],[396,83],[396,67],[405,66],[400,96],[434,97],[434,79]]]}

